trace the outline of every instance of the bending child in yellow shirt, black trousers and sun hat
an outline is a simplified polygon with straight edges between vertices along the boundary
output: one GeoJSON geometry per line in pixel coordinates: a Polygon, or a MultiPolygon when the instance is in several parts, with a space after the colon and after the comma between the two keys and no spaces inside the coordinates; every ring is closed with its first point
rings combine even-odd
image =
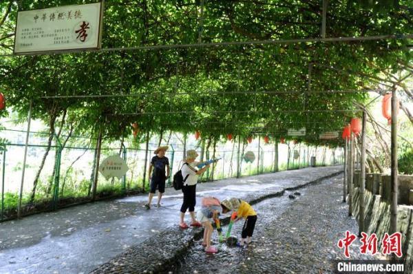
{"type": "Polygon", "coordinates": [[[241,240],[237,245],[244,246],[244,243],[251,243],[253,237],[255,222],[257,222],[257,213],[251,207],[248,202],[237,198],[226,199],[221,202],[222,213],[227,213],[231,210],[237,211],[237,220],[241,218],[245,219],[244,226],[242,227],[241,240]]]}

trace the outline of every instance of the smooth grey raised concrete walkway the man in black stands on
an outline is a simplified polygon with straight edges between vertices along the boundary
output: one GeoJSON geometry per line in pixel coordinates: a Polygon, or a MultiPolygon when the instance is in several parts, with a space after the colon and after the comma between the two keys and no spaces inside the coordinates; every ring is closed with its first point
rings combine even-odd
{"type": "MultiPolygon", "coordinates": [[[[213,195],[252,200],[341,168],[308,168],[204,183],[197,187],[198,199],[213,195]]],[[[0,273],[88,273],[130,246],[177,225],[180,191],[167,189],[159,209],[145,210],[146,200],[146,195],[131,196],[0,223],[0,273]]]]}

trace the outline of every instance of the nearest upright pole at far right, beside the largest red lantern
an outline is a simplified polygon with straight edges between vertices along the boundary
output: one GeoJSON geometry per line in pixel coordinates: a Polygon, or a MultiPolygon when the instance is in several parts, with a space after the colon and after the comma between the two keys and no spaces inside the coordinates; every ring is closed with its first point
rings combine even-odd
{"type": "Polygon", "coordinates": [[[397,192],[399,182],[397,178],[397,94],[396,89],[392,91],[392,203],[390,204],[390,233],[397,232],[397,192]]]}

